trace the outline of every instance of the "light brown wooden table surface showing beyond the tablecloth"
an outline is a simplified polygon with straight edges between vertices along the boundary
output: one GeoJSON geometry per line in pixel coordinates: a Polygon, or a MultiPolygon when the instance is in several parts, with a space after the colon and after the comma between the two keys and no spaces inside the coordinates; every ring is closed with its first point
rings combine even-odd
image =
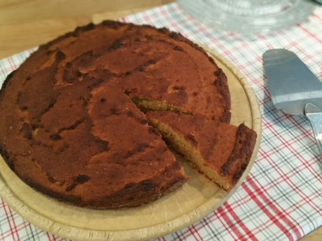
{"type": "MultiPolygon", "coordinates": [[[[103,19],[116,19],[174,0],[0,0],[0,59],[103,19]]],[[[301,241],[321,241],[322,227],[301,241]]]]}

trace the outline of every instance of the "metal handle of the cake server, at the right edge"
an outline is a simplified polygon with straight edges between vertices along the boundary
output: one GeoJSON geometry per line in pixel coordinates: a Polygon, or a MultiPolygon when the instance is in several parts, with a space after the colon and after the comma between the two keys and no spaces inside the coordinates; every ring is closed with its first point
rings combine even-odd
{"type": "Polygon", "coordinates": [[[305,115],[311,122],[315,139],[322,158],[322,111],[315,105],[307,103],[304,108],[305,115]]]}

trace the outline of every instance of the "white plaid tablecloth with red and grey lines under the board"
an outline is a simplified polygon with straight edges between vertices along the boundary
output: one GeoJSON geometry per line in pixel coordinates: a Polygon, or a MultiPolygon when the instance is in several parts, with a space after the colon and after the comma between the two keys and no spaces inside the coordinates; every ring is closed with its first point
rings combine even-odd
{"type": "MultiPolygon", "coordinates": [[[[200,221],[156,240],[295,241],[322,225],[322,161],[310,124],[304,117],[274,109],[262,60],[270,48],[287,48],[321,79],[322,7],[290,29],[252,37],[206,27],[177,3],[121,21],[167,27],[224,55],[250,82],[263,118],[257,160],[234,195],[200,221]]],[[[32,51],[0,60],[0,83],[32,51]]],[[[64,240],[29,224],[0,201],[0,240],[64,240]]]]}

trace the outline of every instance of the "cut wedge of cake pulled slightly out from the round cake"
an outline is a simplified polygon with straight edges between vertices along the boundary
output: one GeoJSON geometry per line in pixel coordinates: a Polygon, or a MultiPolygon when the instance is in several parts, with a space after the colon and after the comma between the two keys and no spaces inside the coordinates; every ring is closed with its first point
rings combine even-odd
{"type": "Polygon", "coordinates": [[[146,114],[165,141],[221,188],[229,191],[250,161],[257,134],[201,116],[154,111],[146,114]]]}

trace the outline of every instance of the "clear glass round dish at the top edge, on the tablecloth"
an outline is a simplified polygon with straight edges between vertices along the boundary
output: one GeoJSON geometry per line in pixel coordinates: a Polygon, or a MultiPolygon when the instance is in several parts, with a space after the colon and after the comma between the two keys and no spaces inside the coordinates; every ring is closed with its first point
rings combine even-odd
{"type": "Polygon", "coordinates": [[[300,23],[312,14],[312,0],[177,0],[201,23],[245,34],[268,33],[300,23]]]}

